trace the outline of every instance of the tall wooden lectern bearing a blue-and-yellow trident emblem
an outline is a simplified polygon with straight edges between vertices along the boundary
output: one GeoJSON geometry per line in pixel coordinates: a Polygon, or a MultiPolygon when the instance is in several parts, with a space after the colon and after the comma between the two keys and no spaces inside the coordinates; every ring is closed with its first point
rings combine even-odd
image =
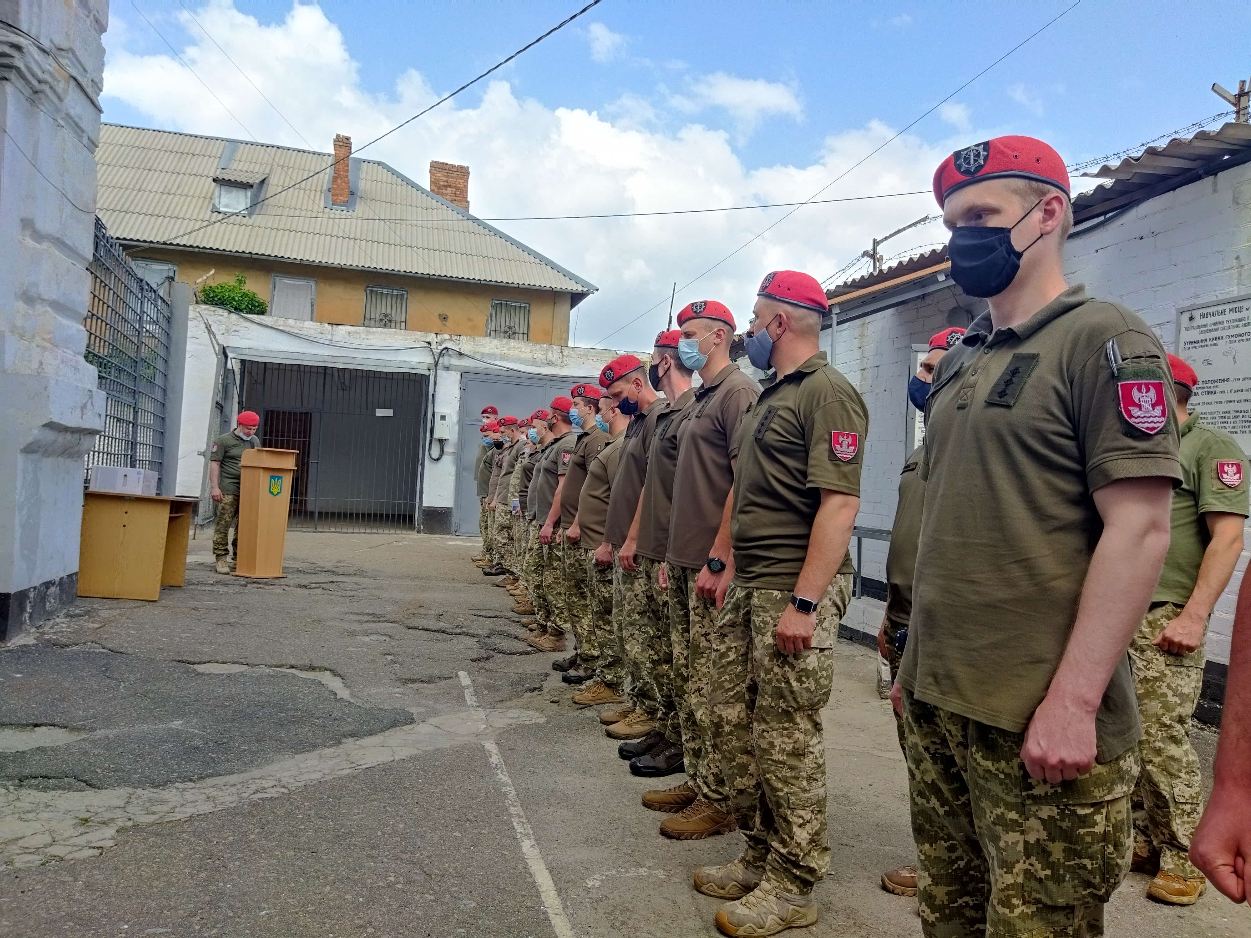
{"type": "Polygon", "coordinates": [[[286,509],[291,503],[295,449],[256,446],[240,460],[239,554],[235,577],[283,575],[286,509]]]}

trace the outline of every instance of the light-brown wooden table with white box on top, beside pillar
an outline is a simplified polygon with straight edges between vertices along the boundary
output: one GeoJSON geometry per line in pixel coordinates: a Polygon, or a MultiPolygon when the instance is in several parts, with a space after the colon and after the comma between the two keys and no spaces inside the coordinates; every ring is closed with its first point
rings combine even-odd
{"type": "Polygon", "coordinates": [[[78,594],[155,600],[161,587],[181,587],[198,504],[194,498],[84,493],[78,594]]]}

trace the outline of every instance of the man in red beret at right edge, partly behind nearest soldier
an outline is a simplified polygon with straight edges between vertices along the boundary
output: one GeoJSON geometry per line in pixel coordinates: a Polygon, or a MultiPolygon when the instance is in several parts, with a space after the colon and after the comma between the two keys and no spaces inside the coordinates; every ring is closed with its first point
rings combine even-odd
{"type": "Polygon", "coordinates": [[[1190,718],[1203,687],[1207,620],[1242,553],[1247,460],[1230,434],[1188,409],[1198,384],[1195,369],[1168,355],[1168,370],[1186,479],[1173,490],[1160,582],[1130,643],[1142,718],[1137,794],[1146,808],[1135,815],[1133,869],[1155,877],[1151,898],[1191,905],[1207,880],[1187,857],[1203,808],[1190,718]]]}

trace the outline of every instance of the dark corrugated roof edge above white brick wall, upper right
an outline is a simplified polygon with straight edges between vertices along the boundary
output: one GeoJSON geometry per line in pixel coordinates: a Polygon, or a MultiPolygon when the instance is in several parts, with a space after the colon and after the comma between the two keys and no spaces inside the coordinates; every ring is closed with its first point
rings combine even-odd
{"type": "Polygon", "coordinates": [[[1223,163],[1237,165],[1251,159],[1251,125],[1226,124],[1220,130],[1200,130],[1195,136],[1148,146],[1117,165],[1105,165],[1087,175],[1110,179],[1073,199],[1078,223],[1113,211],[1142,199],[1153,199],[1212,173],[1223,163]]]}

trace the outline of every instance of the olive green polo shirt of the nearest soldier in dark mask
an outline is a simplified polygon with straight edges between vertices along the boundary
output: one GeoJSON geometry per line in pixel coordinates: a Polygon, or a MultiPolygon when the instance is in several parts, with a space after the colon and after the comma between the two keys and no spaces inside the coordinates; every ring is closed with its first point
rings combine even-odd
{"type": "MultiPolygon", "coordinates": [[[[1182,473],[1165,350],[1138,316],[1078,285],[992,329],[990,313],[973,321],[938,363],[926,403],[899,683],[1021,733],[1060,667],[1103,530],[1091,494],[1182,473]]],[[[1125,655],[1098,713],[1100,762],[1140,733],[1125,655]]]]}

